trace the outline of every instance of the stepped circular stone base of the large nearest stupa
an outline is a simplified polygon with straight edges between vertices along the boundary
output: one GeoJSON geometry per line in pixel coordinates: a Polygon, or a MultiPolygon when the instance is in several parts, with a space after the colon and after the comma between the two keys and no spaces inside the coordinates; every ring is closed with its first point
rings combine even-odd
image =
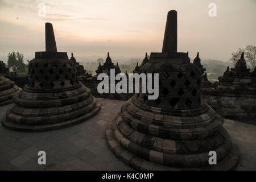
{"type": "Polygon", "coordinates": [[[232,170],[237,166],[239,148],[222,126],[223,119],[208,105],[189,115],[183,110],[173,116],[143,107],[137,98],[123,104],[106,131],[110,149],[122,162],[137,170],[232,170]],[[191,125],[195,122],[197,127],[191,125]],[[216,152],[216,165],[209,164],[210,151],[216,152]]]}

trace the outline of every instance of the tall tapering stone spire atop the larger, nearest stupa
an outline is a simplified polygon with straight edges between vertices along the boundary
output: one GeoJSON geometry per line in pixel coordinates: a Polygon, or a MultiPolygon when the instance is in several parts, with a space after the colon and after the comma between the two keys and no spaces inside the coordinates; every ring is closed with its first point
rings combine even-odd
{"type": "Polygon", "coordinates": [[[177,11],[168,12],[162,52],[177,52],[177,11]]]}

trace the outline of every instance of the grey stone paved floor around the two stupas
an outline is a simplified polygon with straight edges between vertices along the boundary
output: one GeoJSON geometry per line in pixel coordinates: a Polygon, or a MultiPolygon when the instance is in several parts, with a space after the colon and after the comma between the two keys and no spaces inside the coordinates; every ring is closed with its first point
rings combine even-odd
{"type": "MultiPolygon", "coordinates": [[[[98,98],[96,117],[79,125],[43,133],[21,133],[0,124],[0,170],[132,170],[110,151],[105,130],[123,101],[98,98]],[[46,151],[47,164],[38,164],[38,151],[46,151]]],[[[0,107],[0,117],[9,107],[0,107]]],[[[225,128],[240,146],[237,170],[256,170],[256,126],[226,120],[225,128]]]]}

